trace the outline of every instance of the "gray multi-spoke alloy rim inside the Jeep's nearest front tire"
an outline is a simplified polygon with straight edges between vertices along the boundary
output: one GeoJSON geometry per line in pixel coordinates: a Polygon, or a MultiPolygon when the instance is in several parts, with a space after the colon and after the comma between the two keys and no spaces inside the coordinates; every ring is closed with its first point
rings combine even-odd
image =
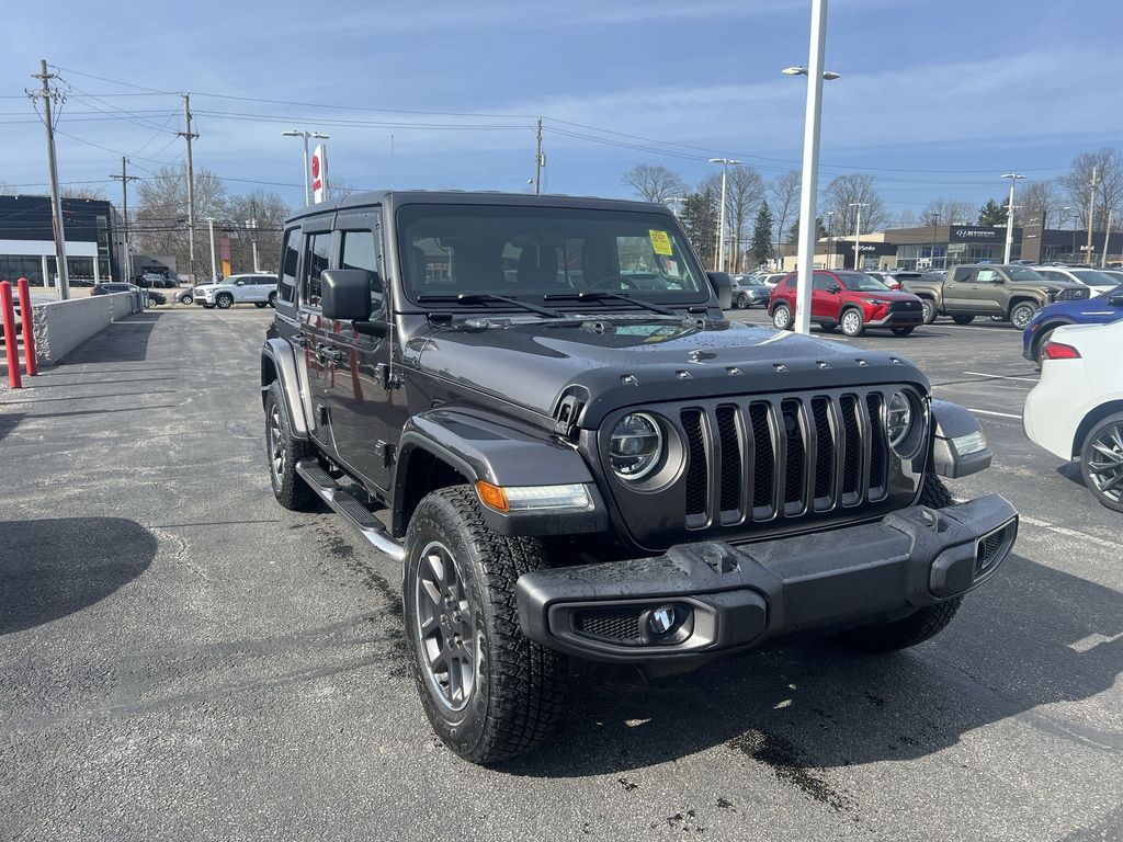
{"type": "Polygon", "coordinates": [[[462,711],[476,684],[475,622],[456,559],[439,541],[421,551],[416,597],[426,678],[442,705],[462,711]]]}

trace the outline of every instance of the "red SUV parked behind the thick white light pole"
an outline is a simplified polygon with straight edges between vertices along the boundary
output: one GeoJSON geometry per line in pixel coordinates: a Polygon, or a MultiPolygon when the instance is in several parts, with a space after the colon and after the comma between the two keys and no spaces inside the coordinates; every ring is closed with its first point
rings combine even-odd
{"type": "MultiPolygon", "coordinates": [[[[768,298],[768,314],[780,330],[791,330],[795,322],[796,282],[796,273],[788,273],[768,298]]],[[[828,332],[841,326],[847,336],[861,336],[866,328],[909,336],[924,323],[924,308],[911,292],[891,290],[862,272],[815,269],[811,321],[828,332]]]]}

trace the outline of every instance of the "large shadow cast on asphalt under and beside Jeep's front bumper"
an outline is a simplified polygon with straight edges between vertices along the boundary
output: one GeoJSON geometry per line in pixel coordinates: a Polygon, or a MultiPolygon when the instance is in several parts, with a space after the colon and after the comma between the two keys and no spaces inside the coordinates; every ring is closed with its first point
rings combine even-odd
{"type": "Polygon", "coordinates": [[[1066,711],[1034,711],[1113,686],[1123,670],[1123,594],[1016,556],[914,650],[862,656],[810,641],[651,683],[621,668],[574,667],[558,738],[504,771],[613,774],[724,743],[819,798],[812,790],[829,787],[815,769],[923,757],[1022,715],[1076,747],[1123,752],[1117,712],[1093,702],[1074,723],[1066,711]]]}

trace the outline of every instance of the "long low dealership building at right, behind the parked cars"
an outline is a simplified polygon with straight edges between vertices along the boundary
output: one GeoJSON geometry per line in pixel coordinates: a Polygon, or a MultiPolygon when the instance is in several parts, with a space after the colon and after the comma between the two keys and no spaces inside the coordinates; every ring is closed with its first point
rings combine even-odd
{"type": "MultiPolygon", "coordinates": [[[[1087,230],[1044,229],[1030,219],[1015,227],[1011,260],[1034,263],[1098,263],[1104,255],[1105,235],[1093,231],[1092,253],[1087,257],[1087,230]]],[[[815,265],[853,268],[853,237],[823,238],[815,244],[815,265]]],[[[1123,255],[1123,234],[1112,231],[1107,239],[1107,259],[1123,255]]],[[[859,238],[859,266],[865,269],[947,268],[962,263],[1002,263],[1006,253],[1005,226],[923,226],[870,231],[859,238]]],[[[794,253],[794,248],[792,249],[794,253]]],[[[786,269],[795,268],[795,254],[784,257],[786,269]]]]}

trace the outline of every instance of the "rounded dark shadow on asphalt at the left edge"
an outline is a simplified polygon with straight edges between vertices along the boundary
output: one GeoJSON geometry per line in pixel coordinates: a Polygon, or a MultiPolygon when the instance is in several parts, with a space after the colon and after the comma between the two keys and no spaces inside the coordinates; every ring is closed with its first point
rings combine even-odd
{"type": "Polygon", "coordinates": [[[157,541],[122,518],[0,521],[0,634],[106,598],[143,574],[157,541]]]}

